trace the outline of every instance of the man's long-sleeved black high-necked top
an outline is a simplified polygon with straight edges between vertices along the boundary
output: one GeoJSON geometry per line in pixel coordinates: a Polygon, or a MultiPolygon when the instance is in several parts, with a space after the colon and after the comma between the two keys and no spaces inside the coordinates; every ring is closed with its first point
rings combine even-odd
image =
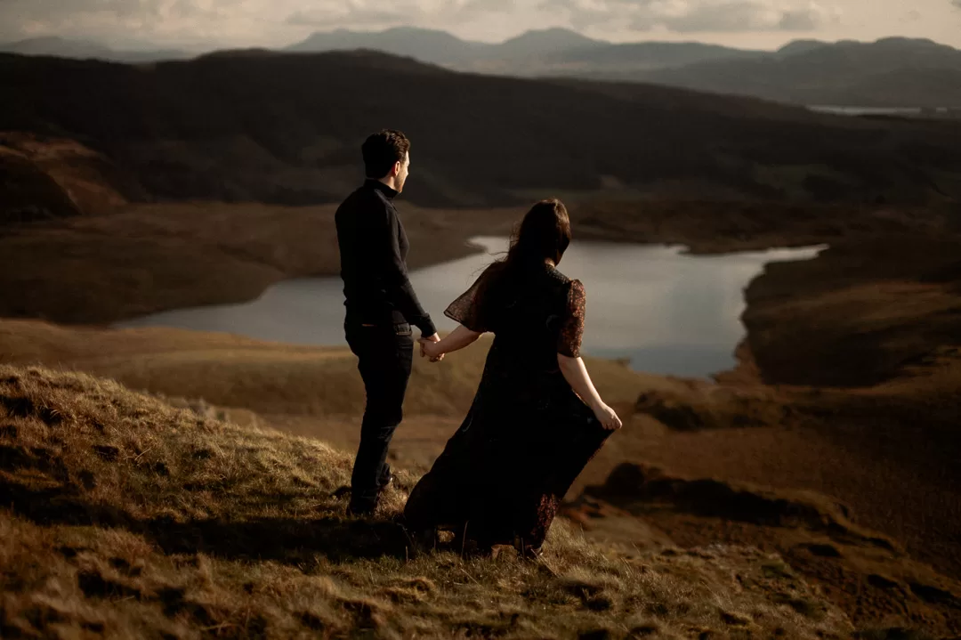
{"type": "Polygon", "coordinates": [[[409,323],[437,332],[407,278],[407,234],[391,202],[397,191],[368,180],[337,209],[347,322],[409,323]]]}

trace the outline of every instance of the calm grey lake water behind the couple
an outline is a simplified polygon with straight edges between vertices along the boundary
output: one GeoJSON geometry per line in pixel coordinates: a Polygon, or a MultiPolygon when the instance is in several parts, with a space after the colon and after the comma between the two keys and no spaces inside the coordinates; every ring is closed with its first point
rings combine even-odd
{"type": "MultiPolygon", "coordinates": [[[[444,308],[470,286],[506,239],[475,238],[488,253],[411,274],[417,294],[441,330],[455,324],[444,308]]],[[[629,358],[633,368],[659,374],[707,376],[730,368],[744,336],[744,287],[765,263],[813,258],[820,248],[776,249],[695,257],[680,247],[576,242],[560,270],[587,290],[584,352],[629,358]]],[[[232,332],[263,340],[344,344],[339,278],[278,283],[241,305],[166,311],[117,327],[178,327],[232,332]]]]}

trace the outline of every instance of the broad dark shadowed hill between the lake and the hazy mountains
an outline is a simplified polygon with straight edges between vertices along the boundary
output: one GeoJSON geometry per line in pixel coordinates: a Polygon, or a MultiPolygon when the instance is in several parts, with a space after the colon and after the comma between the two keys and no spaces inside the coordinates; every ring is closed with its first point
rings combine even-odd
{"type": "Polygon", "coordinates": [[[636,84],[461,74],[370,52],[149,66],[0,55],[0,131],[72,139],[129,200],[308,205],[357,185],[357,146],[414,140],[425,206],[546,194],[931,202],[961,194],[961,128],[860,121],[636,84]],[[456,141],[452,143],[452,141],[456,141]]]}

